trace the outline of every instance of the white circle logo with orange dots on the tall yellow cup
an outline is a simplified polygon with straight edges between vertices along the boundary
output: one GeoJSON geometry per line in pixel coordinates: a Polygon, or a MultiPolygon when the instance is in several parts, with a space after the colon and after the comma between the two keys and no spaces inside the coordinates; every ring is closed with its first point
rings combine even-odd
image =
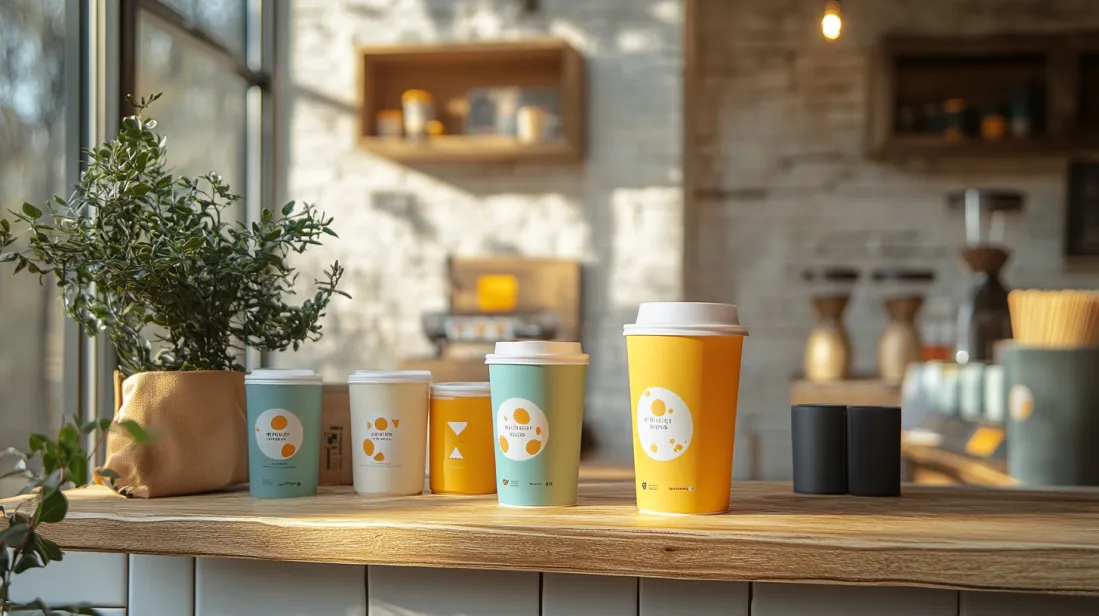
{"type": "Polygon", "coordinates": [[[664,388],[648,388],[637,400],[637,437],[650,458],[675,460],[690,447],[695,421],[684,399],[664,388]]]}

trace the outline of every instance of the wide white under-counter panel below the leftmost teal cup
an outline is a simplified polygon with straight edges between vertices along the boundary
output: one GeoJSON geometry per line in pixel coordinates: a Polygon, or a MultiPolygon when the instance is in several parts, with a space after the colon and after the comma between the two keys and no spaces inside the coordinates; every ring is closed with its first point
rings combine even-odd
{"type": "Polygon", "coordinates": [[[366,568],[200,558],[195,616],[366,616],[366,568]]]}

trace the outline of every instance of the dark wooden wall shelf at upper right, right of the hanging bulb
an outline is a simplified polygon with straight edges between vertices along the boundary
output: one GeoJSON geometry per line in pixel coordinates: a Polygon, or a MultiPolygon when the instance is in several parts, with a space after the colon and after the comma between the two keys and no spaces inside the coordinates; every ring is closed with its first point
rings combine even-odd
{"type": "Polygon", "coordinates": [[[887,159],[1065,156],[1099,147],[1099,33],[890,36],[870,74],[868,150],[887,159]],[[942,103],[965,101],[964,113],[942,103]],[[998,111],[1003,136],[981,135],[998,111]],[[1014,134],[1015,117],[1026,119],[1014,134]],[[961,126],[966,134],[947,138],[961,126]]]}

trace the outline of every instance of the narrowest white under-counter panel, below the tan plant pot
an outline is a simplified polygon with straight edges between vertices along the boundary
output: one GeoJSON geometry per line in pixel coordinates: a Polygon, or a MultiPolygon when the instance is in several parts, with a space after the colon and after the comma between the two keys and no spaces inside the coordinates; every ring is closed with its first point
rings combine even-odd
{"type": "Polygon", "coordinates": [[[195,559],[130,557],[130,616],[195,616],[195,559]]]}

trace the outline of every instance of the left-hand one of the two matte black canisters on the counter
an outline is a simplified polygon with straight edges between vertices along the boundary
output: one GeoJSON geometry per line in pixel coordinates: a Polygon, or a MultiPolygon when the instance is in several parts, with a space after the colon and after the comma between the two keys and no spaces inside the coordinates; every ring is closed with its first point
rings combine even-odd
{"type": "Polygon", "coordinates": [[[847,493],[847,407],[798,404],[790,408],[793,491],[847,493]]]}

